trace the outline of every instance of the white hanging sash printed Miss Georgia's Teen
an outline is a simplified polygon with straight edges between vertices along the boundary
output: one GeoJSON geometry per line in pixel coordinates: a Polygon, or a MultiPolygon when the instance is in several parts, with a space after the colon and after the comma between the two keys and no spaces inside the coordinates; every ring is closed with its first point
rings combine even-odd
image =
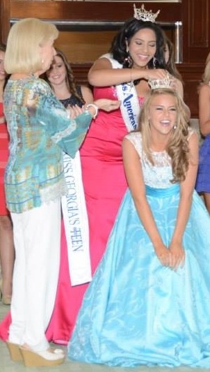
{"type": "Polygon", "coordinates": [[[72,285],[91,281],[89,229],[86,200],[81,177],[79,151],[75,158],[63,153],[65,181],[68,188],[61,198],[67,253],[72,285]]]}

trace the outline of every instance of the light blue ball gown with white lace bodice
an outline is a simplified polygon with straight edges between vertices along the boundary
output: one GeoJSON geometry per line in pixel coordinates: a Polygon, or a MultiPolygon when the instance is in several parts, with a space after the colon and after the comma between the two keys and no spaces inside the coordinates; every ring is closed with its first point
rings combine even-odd
{"type": "MultiPolygon", "coordinates": [[[[168,246],[179,207],[170,158],[154,152],[152,166],[140,133],[127,138],[140,155],[147,200],[168,246]]],[[[184,267],[161,265],[128,190],[83,299],[68,357],[108,366],[210,368],[210,218],[196,191],[183,246],[184,267]]]]}

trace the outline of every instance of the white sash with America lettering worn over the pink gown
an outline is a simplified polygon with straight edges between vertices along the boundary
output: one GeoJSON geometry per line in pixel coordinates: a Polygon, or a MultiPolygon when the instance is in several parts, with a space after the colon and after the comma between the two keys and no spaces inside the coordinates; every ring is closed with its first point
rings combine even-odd
{"type": "MultiPolygon", "coordinates": [[[[111,61],[113,68],[122,68],[122,65],[113,59],[110,53],[103,54],[101,58],[103,57],[111,61]]],[[[138,96],[134,84],[132,84],[132,82],[131,84],[124,82],[115,87],[118,94],[118,100],[121,101],[120,109],[124,124],[129,132],[134,131],[138,126],[138,117],[140,114],[140,104],[138,102],[138,96]]]]}

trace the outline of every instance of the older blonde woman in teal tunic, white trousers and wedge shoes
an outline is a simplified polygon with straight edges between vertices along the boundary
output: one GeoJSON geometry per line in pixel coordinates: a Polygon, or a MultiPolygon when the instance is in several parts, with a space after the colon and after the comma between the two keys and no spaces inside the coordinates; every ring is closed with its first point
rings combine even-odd
{"type": "Polygon", "coordinates": [[[97,100],[67,111],[40,74],[54,58],[58,30],[35,18],[10,29],[5,68],[10,80],[4,107],[10,133],[6,201],[13,219],[16,262],[8,348],[26,366],[54,366],[64,360],[45,337],[56,296],[60,252],[60,198],[66,193],[62,150],[74,157],[99,108],[97,100]]]}

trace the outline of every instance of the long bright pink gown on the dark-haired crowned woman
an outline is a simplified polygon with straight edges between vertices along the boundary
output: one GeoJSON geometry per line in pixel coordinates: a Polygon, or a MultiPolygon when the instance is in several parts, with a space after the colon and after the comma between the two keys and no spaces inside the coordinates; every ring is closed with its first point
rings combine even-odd
{"type": "MultiPolygon", "coordinates": [[[[118,99],[114,87],[95,88],[95,99],[118,99]]],[[[92,274],[104,254],[120,202],[127,189],[122,163],[122,138],[128,133],[119,110],[100,111],[92,121],[80,150],[83,187],[90,230],[92,274]]],[[[87,284],[71,286],[67,262],[67,244],[62,223],[60,276],[56,304],[47,338],[67,344],[79,312],[87,284]]],[[[7,338],[9,315],[0,325],[0,336],[7,338]]]]}

